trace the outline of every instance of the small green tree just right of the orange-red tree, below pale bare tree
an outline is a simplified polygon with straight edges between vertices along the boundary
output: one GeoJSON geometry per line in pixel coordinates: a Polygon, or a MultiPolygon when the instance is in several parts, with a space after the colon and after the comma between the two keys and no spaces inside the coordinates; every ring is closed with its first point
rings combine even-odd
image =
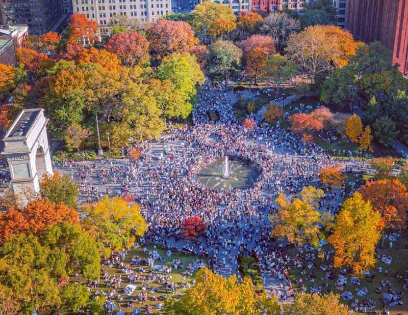
{"type": "Polygon", "coordinates": [[[299,73],[299,66],[286,56],[275,54],[266,64],[266,77],[271,77],[276,84],[276,94],[282,83],[299,73]]]}

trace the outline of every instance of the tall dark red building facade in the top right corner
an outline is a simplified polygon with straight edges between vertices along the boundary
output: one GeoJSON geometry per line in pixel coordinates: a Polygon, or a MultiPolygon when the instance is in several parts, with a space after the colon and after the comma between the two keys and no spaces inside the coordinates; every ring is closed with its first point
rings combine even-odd
{"type": "Polygon", "coordinates": [[[408,74],[408,0],[349,0],[347,28],[363,42],[387,46],[408,74]]]}

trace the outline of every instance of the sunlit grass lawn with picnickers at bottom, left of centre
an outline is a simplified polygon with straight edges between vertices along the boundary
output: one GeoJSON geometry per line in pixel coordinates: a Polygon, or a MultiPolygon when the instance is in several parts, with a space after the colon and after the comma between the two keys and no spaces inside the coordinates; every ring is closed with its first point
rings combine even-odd
{"type": "MultiPolygon", "coordinates": [[[[151,246],[151,245],[147,246],[147,249],[148,249],[148,251],[151,251],[151,250],[152,250],[152,246],[151,246]]],[[[180,260],[183,262],[183,266],[184,266],[183,269],[175,269],[175,268],[172,268],[172,269],[171,269],[171,273],[170,273],[171,282],[177,282],[177,283],[179,283],[179,284],[180,284],[181,281],[190,282],[190,283],[191,283],[192,278],[190,278],[190,277],[184,277],[184,276],[182,275],[182,273],[186,271],[186,267],[187,267],[187,265],[188,265],[189,263],[191,263],[192,261],[194,261],[194,260],[196,260],[196,259],[202,259],[202,260],[204,260],[204,261],[207,263],[207,260],[205,259],[205,257],[202,257],[202,256],[186,255],[186,254],[182,254],[182,253],[172,252],[171,256],[170,256],[170,257],[167,257],[167,255],[166,255],[166,251],[167,251],[167,250],[161,249],[161,248],[159,248],[159,247],[157,247],[155,250],[157,250],[157,251],[159,252],[159,254],[160,254],[162,257],[165,258],[165,262],[159,262],[159,260],[156,260],[156,261],[155,261],[155,264],[156,264],[156,265],[172,266],[172,261],[173,261],[174,259],[176,259],[176,258],[180,259],[180,260]]],[[[125,261],[124,261],[124,265],[125,265],[125,266],[130,265],[130,261],[131,261],[131,259],[132,259],[132,257],[133,257],[134,255],[138,255],[138,256],[140,256],[140,257],[148,257],[148,255],[144,254],[144,252],[143,252],[143,247],[139,247],[139,248],[137,248],[137,249],[131,249],[130,253],[126,256],[126,259],[125,259],[125,261]]],[[[127,275],[126,275],[124,272],[122,272],[122,270],[117,269],[117,268],[108,268],[108,267],[104,267],[104,268],[105,268],[105,271],[106,271],[110,276],[112,276],[112,275],[116,275],[116,276],[117,276],[117,275],[121,275],[121,276],[122,276],[122,283],[121,283],[121,285],[120,285],[120,288],[117,289],[117,292],[121,293],[122,290],[126,287],[127,284],[135,284],[135,285],[136,285],[136,290],[133,292],[133,294],[132,294],[131,296],[122,295],[123,300],[122,300],[120,303],[118,303],[118,302],[115,300],[115,304],[117,305],[115,311],[117,311],[117,310],[119,309],[119,308],[118,308],[118,305],[120,305],[120,306],[121,306],[121,310],[124,311],[125,314],[130,314],[130,313],[133,311],[133,309],[136,308],[136,307],[139,307],[140,309],[142,309],[142,310],[144,311],[143,313],[145,313],[145,310],[146,310],[146,306],[147,306],[147,305],[155,306],[155,305],[158,304],[158,303],[163,303],[163,299],[164,299],[164,297],[165,297],[166,292],[165,292],[165,289],[164,289],[164,285],[158,283],[158,281],[154,281],[154,282],[152,282],[152,283],[148,283],[148,284],[147,284],[147,288],[148,288],[148,290],[147,290],[147,292],[148,292],[148,301],[146,302],[145,305],[143,305],[143,304],[137,303],[137,300],[136,300],[136,297],[138,296],[138,294],[142,292],[142,290],[141,290],[142,282],[129,283],[129,282],[127,281],[127,275]],[[152,287],[158,288],[158,289],[159,289],[158,292],[157,292],[157,293],[150,293],[150,289],[151,289],[152,287]],[[158,297],[158,301],[152,300],[152,298],[155,297],[155,296],[158,297]],[[126,307],[125,307],[126,302],[127,302],[127,301],[130,301],[131,299],[134,300],[134,307],[133,307],[133,309],[131,309],[131,308],[126,308],[126,307]]],[[[145,278],[146,278],[145,282],[147,282],[148,275],[149,275],[149,273],[150,273],[150,268],[149,268],[148,266],[145,266],[145,265],[143,265],[143,266],[134,266],[133,268],[134,268],[134,270],[137,272],[138,275],[145,276],[145,278]],[[139,267],[144,268],[144,269],[146,270],[146,272],[140,273],[140,272],[138,271],[139,267]]],[[[195,274],[195,273],[194,273],[194,274],[195,274]]],[[[193,277],[194,277],[194,274],[193,274],[193,277]]],[[[75,278],[75,277],[72,277],[72,278],[71,278],[71,281],[75,281],[75,280],[80,280],[80,278],[75,278]]],[[[180,286],[179,286],[179,287],[180,287],[180,286]]],[[[107,288],[105,281],[104,281],[103,279],[101,279],[100,284],[99,284],[99,287],[97,288],[97,290],[99,290],[99,291],[110,291],[111,289],[110,289],[110,288],[107,288]]],[[[179,292],[182,293],[183,291],[180,290],[179,292]]],[[[170,295],[171,295],[171,293],[170,293],[170,295]]],[[[158,312],[154,307],[153,307],[153,309],[154,309],[153,313],[155,313],[155,314],[161,313],[161,312],[158,312]]]]}

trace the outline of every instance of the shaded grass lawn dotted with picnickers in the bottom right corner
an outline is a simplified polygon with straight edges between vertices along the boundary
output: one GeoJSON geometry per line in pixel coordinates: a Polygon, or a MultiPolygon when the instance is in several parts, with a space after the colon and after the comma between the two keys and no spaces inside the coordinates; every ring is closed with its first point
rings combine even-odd
{"type": "MultiPolygon", "coordinates": [[[[365,296],[358,296],[356,294],[356,287],[355,285],[350,283],[350,275],[347,275],[347,284],[345,285],[345,288],[343,291],[339,291],[336,289],[336,280],[340,275],[339,269],[332,269],[331,271],[335,273],[335,279],[334,280],[326,280],[324,278],[325,272],[322,271],[320,268],[317,269],[307,269],[306,274],[300,275],[300,270],[297,268],[294,268],[294,272],[291,274],[292,281],[293,279],[298,279],[299,277],[302,278],[303,284],[305,287],[308,288],[308,292],[310,292],[310,288],[313,287],[314,285],[318,285],[319,287],[322,288],[322,291],[324,292],[326,288],[324,285],[328,285],[328,288],[332,290],[336,294],[341,294],[342,292],[349,291],[354,295],[354,299],[359,299],[359,301],[363,301],[366,299],[372,299],[373,301],[376,302],[376,308],[379,310],[382,305],[382,293],[387,292],[386,289],[382,289],[380,294],[375,293],[375,289],[379,287],[379,284],[381,280],[389,280],[392,283],[392,290],[394,292],[402,292],[402,305],[394,306],[394,307],[388,307],[390,309],[391,314],[408,314],[408,293],[406,291],[403,291],[403,280],[397,279],[395,277],[395,274],[399,272],[400,274],[404,274],[405,270],[408,270],[408,250],[404,249],[405,242],[408,237],[408,231],[403,232],[399,240],[393,245],[392,248],[389,247],[388,242],[385,242],[385,247],[384,248],[379,248],[377,253],[381,256],[382,254],[388,254],[392,257],[392,263],[391,265],[386,265],[384,263],[381,263],[378,261],[375,264],[375,268],[381,267],[384,270],[388,270],[388,276],[385,275],[385,272],[382,271],[381,273],[378,272],[375,268],[370,269],[371,274],[375,274],[375,277],[372,282],[367,281],[365,278],[361,279],[361,285],[359,288],[364,288],[366,287],[368,289],[368,294],[365,296]],[[314,282],[310,282],[307,280],[307,276],[313,271],[313,273],[316,276],[316,280],[314,282]]],[[[329,245],[325,245],[324,247],[327,247],[329,245]]],[[[323,248],[324,248],[323,247],[323,248]]],[[[318,252],[315,252],[316,257],[318,256],[318,252]]],[[[333,257],[333,255],[331,255],[333,257]]],[[[320,258],[316,259],[316,265],[319,266],[322,260],[320,258]]],[[[327,262],[325,262],[327,264],[327,262]]],[[[352,301],[354,301],[352,299],[352,301]]],[[[346,302],[342,298],[340,298],[341,302],[344,304],[348,304],[349,306],[351,305],[352,301],[346,302]]]]}

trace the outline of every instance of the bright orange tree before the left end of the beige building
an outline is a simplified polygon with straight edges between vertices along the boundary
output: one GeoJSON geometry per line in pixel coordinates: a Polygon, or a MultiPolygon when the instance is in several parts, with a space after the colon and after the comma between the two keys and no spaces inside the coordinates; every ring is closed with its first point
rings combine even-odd
{"type": "Polygon", "coordinates": [[[72,14],[68,27],[68,43],[92,43],[98,38],[96,21],[88,19],[85,14],[72,14]]]}

